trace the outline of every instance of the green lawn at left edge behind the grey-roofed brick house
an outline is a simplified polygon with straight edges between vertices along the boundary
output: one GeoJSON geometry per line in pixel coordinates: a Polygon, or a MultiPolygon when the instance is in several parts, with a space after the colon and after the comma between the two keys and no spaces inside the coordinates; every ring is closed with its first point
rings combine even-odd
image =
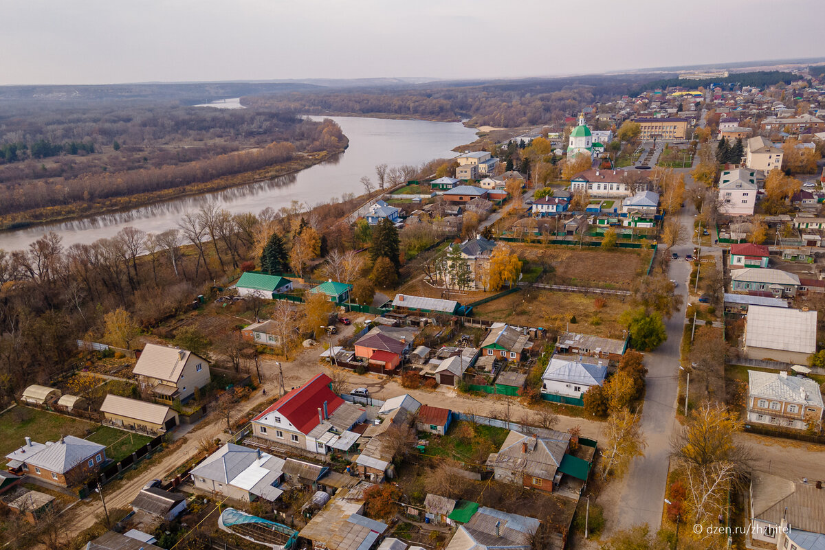
{"type": "Polygon", "coordinates": [[[85,437],[94,429],[92,422],[18,405],[0,415],[0,457],[23,445],[26,436],[45,443],[59,440],[60,436],[85,437]]]}

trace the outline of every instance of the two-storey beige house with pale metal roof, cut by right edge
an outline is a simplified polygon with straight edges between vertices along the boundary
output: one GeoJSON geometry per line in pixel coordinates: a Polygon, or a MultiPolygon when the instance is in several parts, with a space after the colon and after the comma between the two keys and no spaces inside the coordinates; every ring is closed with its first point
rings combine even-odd
{"type": "Polygon", "coordinates": [[[823,417],[816,381],[787,371],[747,371],[747,422],[804,430],[823,417]]]}

